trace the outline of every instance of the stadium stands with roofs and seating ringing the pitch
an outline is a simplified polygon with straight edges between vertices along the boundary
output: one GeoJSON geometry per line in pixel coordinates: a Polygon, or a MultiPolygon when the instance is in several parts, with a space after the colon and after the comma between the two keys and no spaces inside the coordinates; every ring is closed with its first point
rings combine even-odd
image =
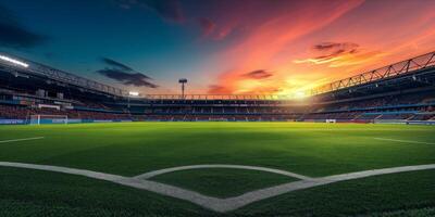
{"type": "Polygon", "coordinates": [[[140,98],[0,53],[0,124],[95,122],[333,122],[435,124],[435,52],[285,95],[140,98]],[[65,120],[65,122],[64,122],[65,120]]]}

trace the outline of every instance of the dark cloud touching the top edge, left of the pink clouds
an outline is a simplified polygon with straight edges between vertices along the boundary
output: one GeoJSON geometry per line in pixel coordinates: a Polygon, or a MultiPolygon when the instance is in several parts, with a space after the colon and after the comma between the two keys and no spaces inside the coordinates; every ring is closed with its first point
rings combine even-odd
{"type": "Polygon", "coordinates": [[[182,23],[185,21],[182,4],[178,0],[116,0],[123,9],[134,7],[147,8],[156,11],[166,21],[182,23]]]}

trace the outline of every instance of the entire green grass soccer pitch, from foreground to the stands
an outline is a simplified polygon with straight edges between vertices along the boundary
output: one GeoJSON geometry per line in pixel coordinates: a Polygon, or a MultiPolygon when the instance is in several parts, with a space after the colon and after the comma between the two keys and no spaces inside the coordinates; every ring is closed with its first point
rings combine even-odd
{"type": "MultiPolygon", "coordinates": [[[[1,126],[0,162],[98,171],[128,181],[181,166],[261,168],[204,166],[144,178],[219,201],[306,178],[324,180],[356,171],[434,165],[435,127],[307,123],[1,126]]],[[[0,216],[434,216],[435,169],[431,168],[314,186],[216,212],[132,184],[0,166],[0,216]]]]}

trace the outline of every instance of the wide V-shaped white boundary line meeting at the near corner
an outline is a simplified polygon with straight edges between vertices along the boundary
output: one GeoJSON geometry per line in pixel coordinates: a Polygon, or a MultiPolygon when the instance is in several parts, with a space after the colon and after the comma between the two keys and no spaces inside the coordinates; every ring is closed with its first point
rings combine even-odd
{"type": "Polygon", "coordinates": [[[318,186],[334,183],[338,181],[346,181],[352,179],[366,178],[372,176],[380,176],[386,174],[396,174],[403,171],[417,171],[425,169],[435,169],[435,164],[418,165],[418,166],[403,166],[403,167],[393,167],[384,169],[372,169],[365,171],[357,171],[341,175],[327,176],[322,178],[313,178],[310,180],[300,180],[289,183],[278,184],[275,187],[270,187],[265,189],[260,189],[251,192],[247,192],[239,196],[228,197],[228,199],[216,199],[213,196],[202,195],[198,192],[185,190],[178,187],[173,187],[170,184],[159,183],[156,181],[137,179],[134,177],[123,177],[111,174],[103,174],[98,171],[91,171],[86,169],[75,169],[60,166],[49,166],[49,165],[36,165],[36,164],[22,164],[22,163],[11,163],[11,162],[0,162],[0,166],[8,167],[18,167],[28,169],[39,169],[47,171],[57,171],[71,175],[79,175],[89,178],[107,180],[122,186],[128,186],[136,189],[142,189],[159,193],[162,195],[167,195],[185,201],[189,201],[204,208],[211,210],[224,213],[237,209],[239,207],[246,206],[250,203],[269,199],[272,196],[281,195],[296,190],[309,189],[318,186]]]}

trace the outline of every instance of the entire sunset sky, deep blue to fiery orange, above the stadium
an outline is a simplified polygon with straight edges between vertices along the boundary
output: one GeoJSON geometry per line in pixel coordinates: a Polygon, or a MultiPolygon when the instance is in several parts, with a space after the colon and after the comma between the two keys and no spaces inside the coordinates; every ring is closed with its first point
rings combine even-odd
{"type": "Polygon", "coordinates": [[[0,0],[0,51],[141,93],[295,95],[434,50],[434,0],[0,0]]]}

